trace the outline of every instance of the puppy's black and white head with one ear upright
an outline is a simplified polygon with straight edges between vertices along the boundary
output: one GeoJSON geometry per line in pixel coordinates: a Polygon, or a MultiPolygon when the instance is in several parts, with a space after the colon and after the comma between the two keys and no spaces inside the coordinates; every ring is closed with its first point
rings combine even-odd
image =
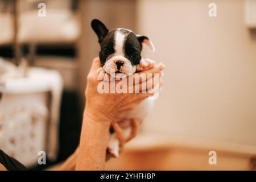
{"type": "Polygon", "coordinates": [[[100,43],[101,65],[106,73],[114,69],[116,73],[135,73],[141,61],[142,46],[154,52],[154,46],[146,36],[135,35],[125,28],[109,31],[98,19],[92,20],[92,28],[100,43]]]}

